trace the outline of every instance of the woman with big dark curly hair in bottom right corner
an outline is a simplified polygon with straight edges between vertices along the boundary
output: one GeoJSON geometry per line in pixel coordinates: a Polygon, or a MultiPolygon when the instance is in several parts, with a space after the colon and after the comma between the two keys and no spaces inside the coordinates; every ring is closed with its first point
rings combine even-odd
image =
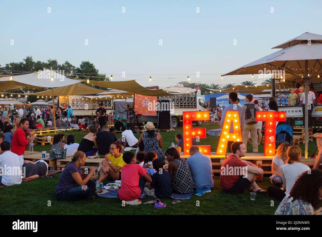
{"type": "Polygon", "coordinates": [[[313,215],[322,200],[322,171],[304,172],[289,195],[279,203],[275,215],[313,215]]]}

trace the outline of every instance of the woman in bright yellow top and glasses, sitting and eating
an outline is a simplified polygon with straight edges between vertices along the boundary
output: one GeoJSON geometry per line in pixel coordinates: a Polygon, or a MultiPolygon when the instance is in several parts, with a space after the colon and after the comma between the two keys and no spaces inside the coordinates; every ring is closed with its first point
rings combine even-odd
{"type": "Polygon", "coordinates": [[[99,172],[99,183],[108,177],[112,180],[121,180],[122,167],[125,165],[123,161],[123,154],[120,153],[122,149],[122,143],[116,141],[111,144],[109,148],[109,154],[105,155],[105,159],[99,163],[103,165],[99,172]]]}

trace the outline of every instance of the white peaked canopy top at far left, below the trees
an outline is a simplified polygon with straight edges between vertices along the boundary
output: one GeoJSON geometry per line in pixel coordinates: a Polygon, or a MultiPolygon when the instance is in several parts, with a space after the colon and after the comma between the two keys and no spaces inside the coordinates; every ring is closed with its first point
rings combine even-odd
{"type": "MultiPolygon", "coordinates": [[[[0,78],[0,82],[10,81],[10,76],[0,78]]],[[[54,70],[46,69],[45,71],[38,71],[37,73],[29,73],[23,75],[14,75],[13,81],[21,83],[23,86],[32,87],[61,87],[80,83],[79,80],[74,80],[65,77],[62,74],[56,73],[54,70]],[[51,80],[53,77],[53,81],[51,80]]]]}

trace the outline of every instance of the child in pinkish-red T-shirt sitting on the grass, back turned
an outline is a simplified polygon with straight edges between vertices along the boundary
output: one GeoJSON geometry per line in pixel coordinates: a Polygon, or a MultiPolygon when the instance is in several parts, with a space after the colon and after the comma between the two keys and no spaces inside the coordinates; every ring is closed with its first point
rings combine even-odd
{"type": "Polygon", "coordinates": [[[151,176],[147,173],[146,169],[136,164],[137,159],[134,153],[125,152],[123,154],[123,161],[126,164],[122,167],[121,189],[118,191],[118,198],[121,201],[125,201],[125,204],[141,204],[141,200],[138,200],[141,195],[139,178],[142,176],[147,182],[151,183],[151,176]]]}

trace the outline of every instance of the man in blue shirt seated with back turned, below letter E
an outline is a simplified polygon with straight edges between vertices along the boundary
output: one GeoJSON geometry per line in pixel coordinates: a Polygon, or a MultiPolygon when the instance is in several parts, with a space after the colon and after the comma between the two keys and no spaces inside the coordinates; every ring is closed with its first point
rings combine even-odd
{"type": "Polygon", "coordinates": [[[210,193],[210,189],[214,187],[214,176],[209,156],[202,154],[198,146],[192,146],[187,163],[194,180],[194,188],[197,190],[196,195],[202,196],[204,193],[210,193]]]}

